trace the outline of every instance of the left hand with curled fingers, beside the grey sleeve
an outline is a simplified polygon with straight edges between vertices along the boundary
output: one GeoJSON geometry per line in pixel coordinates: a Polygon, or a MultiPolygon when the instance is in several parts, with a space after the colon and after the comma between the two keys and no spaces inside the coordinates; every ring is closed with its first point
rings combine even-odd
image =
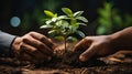
{"type": "Polygon", "coordinates": [[[53,56],[55,44],[51,39],[37,32],[30,32],[23,36],[16,38],[12,44],[14,52],[20,52],[22,60],[33,63],[50,61],[53,56]]]}

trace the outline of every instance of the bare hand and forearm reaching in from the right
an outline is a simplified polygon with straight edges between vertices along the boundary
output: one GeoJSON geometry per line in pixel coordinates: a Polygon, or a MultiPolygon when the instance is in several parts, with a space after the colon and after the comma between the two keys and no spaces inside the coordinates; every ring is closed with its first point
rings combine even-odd
{"type": "Polygon", "coordinates": [[[86,36],[74,51],[84,50],[79,60],[86,62],[92,56],[109,55],[122,49],[132,50],[132,27],[110,35],[86,36]]]}

